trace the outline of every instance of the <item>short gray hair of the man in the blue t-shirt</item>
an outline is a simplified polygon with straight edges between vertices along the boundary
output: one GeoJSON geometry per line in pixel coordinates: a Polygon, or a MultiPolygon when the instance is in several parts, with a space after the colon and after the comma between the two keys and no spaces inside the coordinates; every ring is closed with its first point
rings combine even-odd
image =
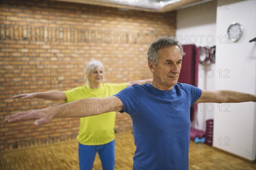
{"type": "Polygon", "coordinates": [[[157,40],[155,40],[148,48],[148,61],[151,61],[154,65],[157,65],[158,51],[161,48],[171,46],[178,46],[183,56],[183,46],[180,44],[180,42],[176,40],[172,35],[166,35],[164,37],[157,38],[157,40]]]}

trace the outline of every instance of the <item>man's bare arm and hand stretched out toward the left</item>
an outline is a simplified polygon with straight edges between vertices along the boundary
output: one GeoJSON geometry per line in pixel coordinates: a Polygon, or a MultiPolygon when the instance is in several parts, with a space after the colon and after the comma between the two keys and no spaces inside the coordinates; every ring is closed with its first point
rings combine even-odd
{"type": "Polygon", "coordinates": [[[42,111],[32,110],[15,113],[6,116],[5,121],[12,123],[35,120],[34,125],[38,126],[49,123],[53,117],[87,117],[122,110],[122,101],[116,96],[106,98],[86,98],[59,105],[59,107],[54,110],[44,108],[42,111]]]}

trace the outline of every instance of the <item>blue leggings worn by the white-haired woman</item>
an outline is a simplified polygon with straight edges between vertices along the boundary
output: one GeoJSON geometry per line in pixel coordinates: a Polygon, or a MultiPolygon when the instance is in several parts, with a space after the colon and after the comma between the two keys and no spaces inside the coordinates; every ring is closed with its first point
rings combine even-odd
{"type": "Polygon", "coordinates": [[[102,145],[84,145],[79,143],[80,170],[92,170],[96,153],[102,162],[103,170],[113,170],[115,167],[115,140],[102,145]]]}

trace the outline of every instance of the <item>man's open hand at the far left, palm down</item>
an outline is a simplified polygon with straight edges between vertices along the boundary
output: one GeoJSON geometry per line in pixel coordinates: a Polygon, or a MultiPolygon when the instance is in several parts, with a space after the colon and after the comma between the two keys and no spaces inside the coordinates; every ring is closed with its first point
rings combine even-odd
{"type": "Polygon", "coordinates": [[[42,111],[32,110],[32,111],[25,111],[20,113],[15,113],[9,116],[6,116],[5,122],[12,123],[12,122],[19,122],[25,120],[35,120],[34,125],[44,125],[51,122],[52,117],[54,116],[53,112],[49,111],[49,108],[45,108],[42,111]]]}

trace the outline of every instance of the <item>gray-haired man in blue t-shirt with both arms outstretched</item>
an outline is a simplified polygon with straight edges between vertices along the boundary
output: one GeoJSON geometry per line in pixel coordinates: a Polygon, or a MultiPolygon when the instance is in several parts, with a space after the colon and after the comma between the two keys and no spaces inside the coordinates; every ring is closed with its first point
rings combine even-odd
{"type": "Polygon", "coordinates": [[[194,103],[256,102],[253,94],[236,91],[201,91],[178,83],[183,48],[172,36],[158,38],[148,49],[150,84],[133,85],[106,98],[87,98],[58,107],[6,116],[6,122],[35,119],[34,125],[52,117],[86,117],[110,111],[127,112],[133,121],[136,151],[134,169],[189,168],[190,107],[194,103]],[[87,104],[94,107],[87,107],[87,104]],[[108,105],[108,107],[105,107],[108,105]],[[101,106],[101,108],[99,108],[101,106]]]}

